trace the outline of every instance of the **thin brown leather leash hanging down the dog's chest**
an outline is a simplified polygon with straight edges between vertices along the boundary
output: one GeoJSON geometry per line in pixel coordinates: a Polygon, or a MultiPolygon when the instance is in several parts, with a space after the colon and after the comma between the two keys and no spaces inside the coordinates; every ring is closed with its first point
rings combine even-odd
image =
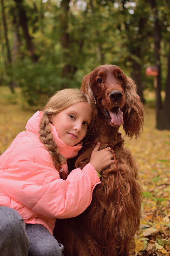
{"type": "MultiPolygon", "coordinates": [[[[87,144],[96,144],[96,143],[94,143],[94,142],[87,142],[87,143],[85,144],[85,146],[86,146],[87,144]]],[[[116,156],[115,156],[115,153],[114,153],[114,146],[113,146],[111,143],[100,143],[100,144],[101,144],[101,145],[107,145],[108,147],[111,147],[111,148],[112,148],[112,149],[109,150],[109,151],[112,152],[112,155],[113,155],[113,158],[114,158],[114,161],[115,161],[115,165],[116,165],[116,176],[117,176],[117,184],[118,184],[118,207],[117,207],[117,209],[118,209],[118,210],[117,210],[117,215],[118,215],[118,217],[117,217],[117,227],[116,227],[116,234],[117,234],[117,232],[118,232],[118,226],[119,226],[119,206],[120,206],[120,188],[119,188],[119,170],[118,170],[118,163],[117,163],[117,159],[116,159],[116,156]]],[[[84,149],[83,149],[82,153],[83,153],[84,150],[85,150],[85,146],[84,146],[84,149]]],[[[82,219],[82,220],[83,220],[83,219],[82,219]]],[[[85,231],[86,231],[87,235],[90,237],[90,239],[92,240],[92,243],[93,243],[94,245],[96,245],[96,246],[98,246],[98,247],[100,247],[100,248],[108,248],[108,247],[110,247],[110,246],[115,242],[115,237],[114,237],[113,242],[112,242],[111,244],[109,244],[108,246],[100,246],[100,245],[94,243],[92,237],[90,236],[90,234],[88,233],[88,231],[87,231],[87,229],[86,229],[86,225],[85,225],[85,223],[84,223],[84,220],[83,220],[83,224],[84,224],[85,231]]]]}

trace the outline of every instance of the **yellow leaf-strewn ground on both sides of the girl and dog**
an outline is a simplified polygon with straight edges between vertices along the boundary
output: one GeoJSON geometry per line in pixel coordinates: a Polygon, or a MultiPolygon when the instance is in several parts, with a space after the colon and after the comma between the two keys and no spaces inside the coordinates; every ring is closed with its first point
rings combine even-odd
{"type": "MultiPolygon", "coordinates": [[[[37,110],[24,110],[19,89],[12,95],[0,87],[0,154],[37,110]]],[[[153,105],[153,104],[152,104],[153,105]]],[[[155,129],[155,109],[145,105],[145,127],[141,137],[125,138],[126,144],[140,164],[140,181],[144,202],[142,220],[132,255],[170,255],[170,131],[155,129]]],[[[121,130],[123,133],[123,130],[121,130]]]]}

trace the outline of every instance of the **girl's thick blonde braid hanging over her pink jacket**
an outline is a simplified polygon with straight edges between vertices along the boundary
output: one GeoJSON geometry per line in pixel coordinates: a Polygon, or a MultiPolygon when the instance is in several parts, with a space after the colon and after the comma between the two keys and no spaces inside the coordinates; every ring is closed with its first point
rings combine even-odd
{"type": "Polygon", "coordinates": [[[48,149],[49,154],[54,161],[54,166],[59,172],[60,178],[65,180],[67,177],[65,172],[60,172],[59,170],[62,168],[62,165],[67,162],[67,159],[65,158],[65,156],[59,153],[58,147],[51,133],[50,115],[45,112],[40,122],[39,134],[39,139],[48,149]]]}

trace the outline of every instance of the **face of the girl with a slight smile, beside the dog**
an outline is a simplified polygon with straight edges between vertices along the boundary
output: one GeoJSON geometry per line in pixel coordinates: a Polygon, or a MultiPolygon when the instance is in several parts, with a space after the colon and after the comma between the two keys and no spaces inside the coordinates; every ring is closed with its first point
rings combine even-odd
{"type": "Polygon", "coordinates": [[[68,146],[78,144],[86,135],[92,121],[92,108],[88,102],[78,102],[51,118],[59,138],[68,146]]]}

